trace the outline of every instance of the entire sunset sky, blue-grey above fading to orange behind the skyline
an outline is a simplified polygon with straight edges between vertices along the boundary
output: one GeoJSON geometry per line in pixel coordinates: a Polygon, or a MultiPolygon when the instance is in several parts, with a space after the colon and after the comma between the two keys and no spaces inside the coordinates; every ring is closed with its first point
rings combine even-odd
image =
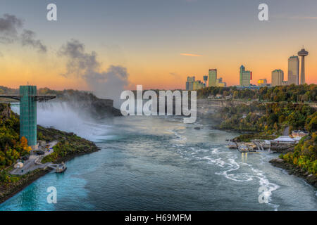
{"type": "Polygon", "coordinates": [[[240,65],[253,84],[270,83],[275,69],[287,79],[287,59],[303,45],[311,84],[316,39],[316,0],[0,0],[0,85],[185,89],[187,76],[202,80],[210,68],[236,85],[240,65]],[[57,21],[46,19],[51,3],[57,21]],[[261,3],[268,21],[258,18],[261,3]],[[1,33],[8,19],[13,30],[1,33]]]}

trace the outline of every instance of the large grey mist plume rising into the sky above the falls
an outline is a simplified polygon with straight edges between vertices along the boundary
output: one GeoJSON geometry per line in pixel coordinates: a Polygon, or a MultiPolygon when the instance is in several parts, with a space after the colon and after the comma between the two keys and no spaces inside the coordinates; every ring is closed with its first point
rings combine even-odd
{"type": "Polygon", "coordinates": [[[115,107],[120,107],[120,94],[128,86],[129,74],[120,65],[110,65],[106,71],[99,71],[97,53],[85,52],[85,45],[75,39],[68,41],[58,51],[58,56],[68,59],[64,77],[84,79],[94,94],[99,98],[113,99],[115,107]]]}

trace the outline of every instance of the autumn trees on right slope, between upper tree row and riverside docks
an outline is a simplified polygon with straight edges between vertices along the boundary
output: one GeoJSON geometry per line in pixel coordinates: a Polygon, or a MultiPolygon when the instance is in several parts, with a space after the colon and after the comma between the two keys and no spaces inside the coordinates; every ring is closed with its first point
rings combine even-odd
{"type": "Polygon", "coordinates": [[[221,108],[218,112],[223,119],[221,129],[257,131],[281,135],[285,127],[316,131],[317,112],[302,103],[259,103],[235,105],[221,108]]]}

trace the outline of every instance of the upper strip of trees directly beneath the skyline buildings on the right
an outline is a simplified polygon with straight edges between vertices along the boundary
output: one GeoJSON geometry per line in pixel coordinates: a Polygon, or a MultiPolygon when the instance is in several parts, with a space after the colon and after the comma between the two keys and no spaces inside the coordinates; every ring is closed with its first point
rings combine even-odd
{"type": "Polygon", "coordinates": [[[238,89],[237,86],[218,87],[209,86],[197,91],[197,96],[207,98],[217,94],[231,96],[234,99],[259,99],[259,101],[292,101],[292,102],[316,102],[317,85],[288,85],[261,87],[260,89],[238,89]]]}

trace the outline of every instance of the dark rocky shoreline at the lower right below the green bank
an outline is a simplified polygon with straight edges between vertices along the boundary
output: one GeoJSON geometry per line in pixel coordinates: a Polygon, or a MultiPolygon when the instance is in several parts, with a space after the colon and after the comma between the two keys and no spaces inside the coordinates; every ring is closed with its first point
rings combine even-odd
{"type": "Polygon", "coordinates": [[[294,165],[291,165],[290,163],[287,163],[285,162],[285,160],[282,160],[280,158],[274,158],[268,162],[270,162],[271,165],[273,165],[274,167],[285,169],[289,175],[294,175],[304,179],[308,184],[310,184],[314,188],[317,188],[317,176],[303,171],[299,167],[295,167],[294,165]]]}

